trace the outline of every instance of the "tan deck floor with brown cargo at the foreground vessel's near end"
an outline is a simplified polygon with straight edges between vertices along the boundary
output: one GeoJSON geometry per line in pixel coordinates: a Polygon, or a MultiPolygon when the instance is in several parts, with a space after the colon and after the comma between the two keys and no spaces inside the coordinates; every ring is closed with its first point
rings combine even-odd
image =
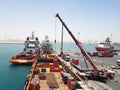
{"type": "MultiPolygon", "coordinates": [[[[54,88],[54,90],[69,90],[67,85],[65,85],[61,81],[62,77],[59,72],[55,72],[55,73],[46,72],[45,74],[47,76],[46,80],[40,80],[39,85],[41,90],[49,90],[50,85],[51,87],[54,88]],[[50,74],[53,75],[53,78],[51,78],[52,76],[49,76],[50,74]],[[55,79],[55,82],[53,79],[55,79]]],[[[39,76],[36,75],[35,77],[38,78],[39,76]]]]}

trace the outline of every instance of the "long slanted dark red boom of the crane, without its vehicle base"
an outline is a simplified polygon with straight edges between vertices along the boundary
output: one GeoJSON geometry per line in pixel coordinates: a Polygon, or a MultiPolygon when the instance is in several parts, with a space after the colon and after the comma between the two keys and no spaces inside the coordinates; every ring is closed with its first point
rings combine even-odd
{"type": "Polygon", "coordinates": [[[61,21],[61,23],[63,24],[63,26],[66,28],[66,30],[68,31],[68,33],[70,34],[70,36],[73,38],[74,42],[76,43],[76,45],[78,46],[78,48],[81,50],[82,54],[86,57],[86,59],[89,61],[89,63],[92,65],[92,67],[94,68],[93,70],[93,75],[94,76],[99,76],[99,72],[100,70],[97,68],[95,62],[93,61],[92,57],[87,53],[86,49],[83,47],[82,43],[79,42],[75,36],[72,34],[72,32],[69,30],[69,28],[66,26],[66,24],[63,22],[63,20],[61,19],[61,17],[59,16],[59,14],[56,14],[56,17],[58,17],[58,19],[61,21]]]}

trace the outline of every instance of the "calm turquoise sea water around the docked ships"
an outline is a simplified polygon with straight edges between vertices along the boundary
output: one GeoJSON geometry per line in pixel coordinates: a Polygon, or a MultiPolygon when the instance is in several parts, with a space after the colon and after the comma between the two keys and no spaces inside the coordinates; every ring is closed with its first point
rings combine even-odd
{"type": "MultiPolygon", "coordinates": [[[[95,45],[84,45],[86,50],[95,51],[95,45]]],[[[12,65],[9,59],[16,53],[23,50],[24,45],[20,44],[0,44],[0,90],[23,90],[26,75],[30,71],[31,65],[12,65]]],[[[55,48],[55,44],[54,44],[55,48]]],[[[120,47],[117,47],[117,49],[120,47]]],[[[60,44],[56,44],[57,51],[60,44]]],[[[74,43],[64,43],[64,50],[79,51],[74,43]]]]}

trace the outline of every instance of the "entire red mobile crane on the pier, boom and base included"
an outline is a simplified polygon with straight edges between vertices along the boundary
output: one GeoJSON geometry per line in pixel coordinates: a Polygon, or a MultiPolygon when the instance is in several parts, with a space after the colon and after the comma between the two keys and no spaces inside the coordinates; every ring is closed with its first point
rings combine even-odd
{"type": "Polygon", "coordinates": [[[81,53],[83,54],[83,56],[85,56],[86,60],[88,60],[88,62],[91,64],[91,66],[93,67],[93,70],[90,74],[91,77],[95,77],[95,78],[114,78],[114,73],[108,70],[99,70],[98,67],[96,66],[95,62],[93,61],[93,58],[87,53],[86,49],[83,47],[82,43],[79,42],[75,36],[72,34],[72,32],[69,30],[69,28],[66,26],[66,24],[63,22],[63,20],[61,19],[61,17],[59,16],[59,14],[56,14],[56,17],[60,20],[60,22],[62,23],[62,25],[66,28],[67,32],[70,34],[70,36],[72,37],[72,39],[74,40],[74,42],[76,43],[76,45],[78,46],[78,48],[80,49],[81,53]]]}

